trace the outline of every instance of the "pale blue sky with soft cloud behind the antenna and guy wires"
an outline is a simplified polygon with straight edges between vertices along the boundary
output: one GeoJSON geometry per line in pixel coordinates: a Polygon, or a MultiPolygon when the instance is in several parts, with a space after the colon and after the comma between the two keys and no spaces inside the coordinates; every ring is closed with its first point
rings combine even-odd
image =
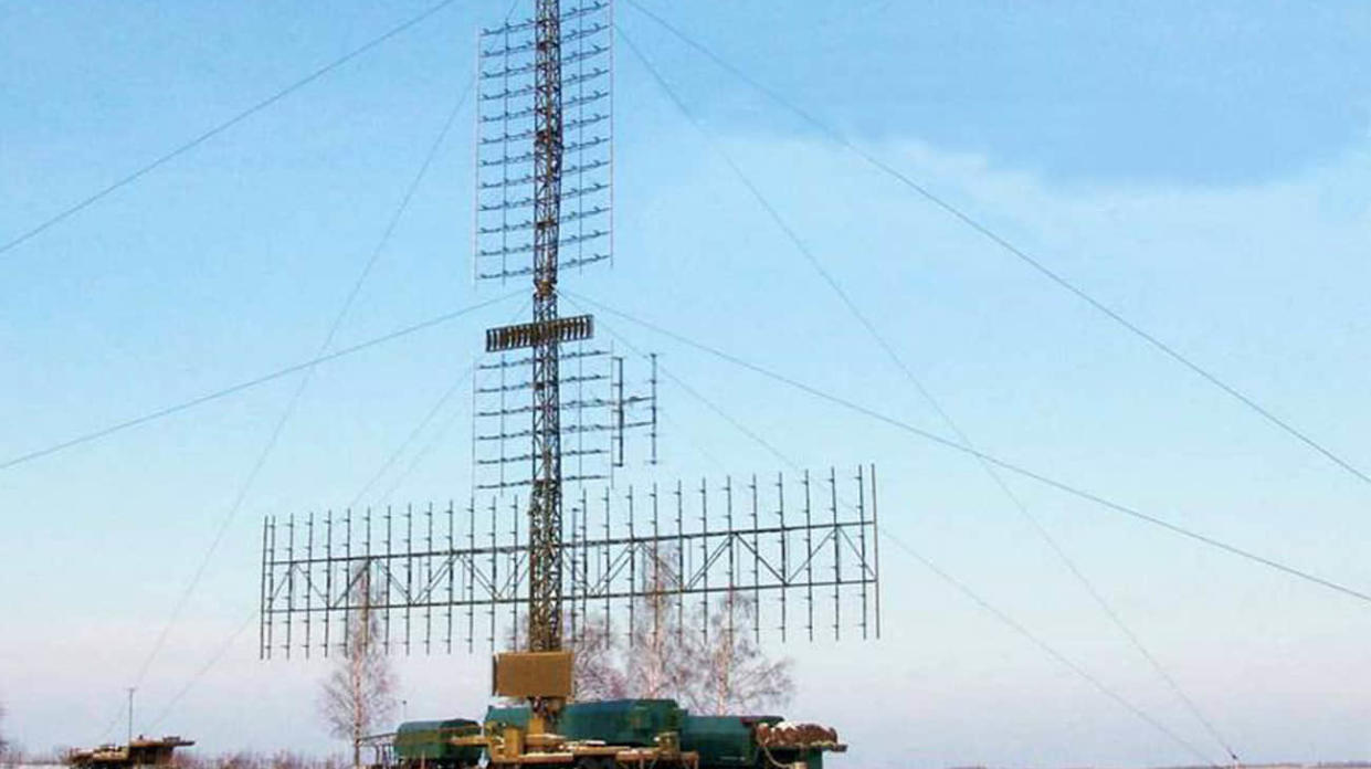
{"type": "MultiPolygon", "coordinates": [[[[1367,5],[644,4],[1371,465],[1367,5]]],[[[0,240],[422,7],[0,4],[0,240]]],[[[0,255],[0,455],[313,355],[470,77],[474,30],[503,7],[447,8],[0,255]]],[[[569,288],[943,433],[731,175],[712,148],[721,145],[978,445],[1371,585],[1366,484],[629,4],[617,12],[712,140],[618,52],[616,265],[569,288]]],[[[468,112],[340,344],[498,296],[469,280],[470,133],[468,112]]],[[[318,369],[149,669],[148,720],[252,611],[260,517],[350,502],[470,363],[481,329],[517,310],[506,303],[318,369]]],[[[600,319],[659,350],[795,462],[876,462],[890,535],[1216,754],[975,463],[600,319]]],[[[101,736],[293,387],[282,380],[0,472],[0,698],[18,739],[43,750],[101,736]]],[[[664,400],[659,474],[776,469],[679,388],[664,400]]],[[[435,448],[395,500],[465,493],[463,403],[424,433],[435,448]]],[[[1010,484],[1243,758],[1371,757],[1364,605],[1010,484]]],[[[791,714],[836,724],[856,746],[847,765],[1191,761],[888,551],[883,642],[780,650],[802,676],[791,714]]],[[[322,668],[262,665],[251,635],[156,728],[211,753],[332,748],[310,705],[322,668]]],[[[478,710],[484,672],[481,658],[402,661],[410,713],[478,710]]]]}

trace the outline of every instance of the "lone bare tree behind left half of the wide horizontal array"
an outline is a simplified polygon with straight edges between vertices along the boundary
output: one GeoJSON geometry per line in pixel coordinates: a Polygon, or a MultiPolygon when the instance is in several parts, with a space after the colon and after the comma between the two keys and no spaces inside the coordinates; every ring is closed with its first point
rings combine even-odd
{"type": "Polygon", "coordinates": [[[324,680],[319,711],[336,737],[351,740],[352,768],[362,766],[362,737],[395,713],[395,673],[378,643],[380,617],[372,611],[374,592],[366,563],[352,574],[354,600],[361,609],[348,617],[343,655],[324,680]]]}

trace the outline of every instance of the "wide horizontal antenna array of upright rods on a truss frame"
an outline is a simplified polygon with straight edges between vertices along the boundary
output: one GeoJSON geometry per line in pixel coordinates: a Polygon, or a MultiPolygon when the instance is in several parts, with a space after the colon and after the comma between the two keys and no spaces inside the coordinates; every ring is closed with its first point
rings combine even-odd
{"type": "MultiPolygon", "coordinates": [[[[528,607],[525,510],[526,499],[492,496],[461,509],[265,520],[262,658],[345,652],[343,629],[363,610],[378,617],[387,652],[517,647],[528,607]]],[[[568,513],[559,562],[570,640],[596,632],[633,643],[664,607],[676,632],[706,636],[723,625],[757,640],[880,635],[875,467],[598,495],[583,487],[568,513]],[[732,626],[736,596],[755,606],[744,628],[732,626]]]]}

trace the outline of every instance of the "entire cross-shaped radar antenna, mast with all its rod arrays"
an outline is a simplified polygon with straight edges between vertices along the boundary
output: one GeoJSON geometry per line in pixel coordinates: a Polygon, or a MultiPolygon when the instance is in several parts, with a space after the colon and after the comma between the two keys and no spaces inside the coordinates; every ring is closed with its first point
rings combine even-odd
{"type": "MultiPolygon", "coordinates": [[[[469,500],[267,518],[262,657],[345,654],[356,617],[377,617],[381,646],[404,654],[522,642],[528,654],[500,657],[522,681],[565,679],[563,642],[591,629],[636,640],[648,625],[683,633],[687,615],[705,635],[740,622],[758,640],[879,636],[875,467],[616,478],[627,435],[646,433],[657,463],[657,356],[616,355],[591,315],[558,311],[565,270],[613,254],[611,7],[533,1],[533,18],[478,36],[473,276],[531,280],[533,314],[485,334],[469,500]],[[625,374],[629,361],[646,377],[625,374]],[[548,658],[558,668],[528,668],[548,658]]],[[[569,694],[517,696],[555,718],[569,694]]]]}

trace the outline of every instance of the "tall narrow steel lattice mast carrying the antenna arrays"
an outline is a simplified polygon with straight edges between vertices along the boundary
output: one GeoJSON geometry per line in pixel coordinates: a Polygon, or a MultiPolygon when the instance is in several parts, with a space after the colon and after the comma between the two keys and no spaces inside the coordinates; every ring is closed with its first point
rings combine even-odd
{"type": "MultiPolygon", "coordinates": [[[[533,138],[533,324],[557,325],[562,207],[562,21],[559,0],[537,0],[533,138]]],[[[533,344],[533,485],[529,495],[529,651],[562,647],[562,408],[559,340],[533,344]]]]}

